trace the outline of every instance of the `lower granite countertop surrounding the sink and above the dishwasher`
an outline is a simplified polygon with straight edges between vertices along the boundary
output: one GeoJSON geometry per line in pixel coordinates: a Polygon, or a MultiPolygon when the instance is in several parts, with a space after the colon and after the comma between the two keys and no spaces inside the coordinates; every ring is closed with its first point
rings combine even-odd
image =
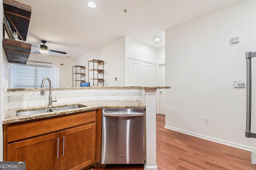
{"type": "Polygon", "coordinates": [[[145,108],[145,106],[140,100],[94,100],[94,101],[75,102],[75,103],[68,103],[68,104],[61,104],[61,105],[54,105],[54,106],[15,108],[15,109],[8,109],[6,116],[2,121],[2,124],[22,122],[27,120],[35,120],[35,119],[41,119],[45,117],[54,117],[59,115],[68,115],[70,113],[90,111],[90,110],[101,109],[101,108],[145,108]],[[38,114],[33,114],[28,116],[16,116],[16,111],[31,111],[31,110],[52,108],[56,106],[58,107],[70,106],[74,104],[85,105],[87,107],[80,107],[77,109],[69,109],[69,110],[63,110],[63,111],[52,111],[48,113],[38,113],[38,114]]]}

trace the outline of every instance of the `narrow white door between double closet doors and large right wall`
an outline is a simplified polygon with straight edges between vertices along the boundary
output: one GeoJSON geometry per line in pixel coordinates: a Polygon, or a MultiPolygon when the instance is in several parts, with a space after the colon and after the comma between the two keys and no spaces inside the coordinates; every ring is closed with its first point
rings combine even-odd
{"type": "MultiPolygon", "coordinates": [[[[165,65],[160,65],[160,86],[165,86],[165,65]]],[[[165,115],[165,89],[160,90],[160,114],[165,115]]]]}

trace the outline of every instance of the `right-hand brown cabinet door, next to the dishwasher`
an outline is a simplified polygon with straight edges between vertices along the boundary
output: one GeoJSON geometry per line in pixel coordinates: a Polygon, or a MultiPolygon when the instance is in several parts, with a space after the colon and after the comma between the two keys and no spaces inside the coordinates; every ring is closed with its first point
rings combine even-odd
{"type": "Polygon", "coordinates": [[[60,137],[60,170],[82,169],[95,162],[95,123],[61,131],[60,137]]]}

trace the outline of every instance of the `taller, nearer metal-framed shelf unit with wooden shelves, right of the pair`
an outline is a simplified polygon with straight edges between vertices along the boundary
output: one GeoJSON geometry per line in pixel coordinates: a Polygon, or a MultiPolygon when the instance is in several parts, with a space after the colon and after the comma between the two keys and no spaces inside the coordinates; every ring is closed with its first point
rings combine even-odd
{"type": "Polygon", "coordinates": [[[92,86],[94,86],[95,84],[99,86],[100,83],[102,83],[102,86],[104,86],[104,61],[96,60],[96,59],[92,59],[88,61],[88,82],[92,82],[90,83],[92,86]],[[90,63],[92,63],[92,66],[90,66],[91,65],[90,63]],[[96,75],[95,75],[95,72],[96,72],[96,75]]]}

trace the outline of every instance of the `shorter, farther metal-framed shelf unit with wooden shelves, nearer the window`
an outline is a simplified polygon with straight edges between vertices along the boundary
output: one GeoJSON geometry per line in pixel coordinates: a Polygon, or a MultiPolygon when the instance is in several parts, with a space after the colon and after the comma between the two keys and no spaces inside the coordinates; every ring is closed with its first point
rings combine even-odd
{"type": "Polygon", "coordinates": [[[72,67],[72,86],[80,87],[80,83],[85,82],[85,66],[75,65],[72,67]]]}

